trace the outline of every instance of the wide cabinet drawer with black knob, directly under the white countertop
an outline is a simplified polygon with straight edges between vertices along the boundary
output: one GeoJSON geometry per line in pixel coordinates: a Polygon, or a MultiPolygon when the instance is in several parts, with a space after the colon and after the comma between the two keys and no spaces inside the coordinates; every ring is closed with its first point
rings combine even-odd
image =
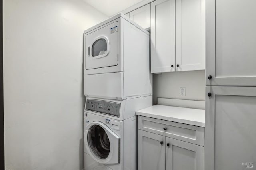
{"type": "Polygon", "coordinates": [[[204,146],[204,127],[138,116],[138,129],[204,146]]]}

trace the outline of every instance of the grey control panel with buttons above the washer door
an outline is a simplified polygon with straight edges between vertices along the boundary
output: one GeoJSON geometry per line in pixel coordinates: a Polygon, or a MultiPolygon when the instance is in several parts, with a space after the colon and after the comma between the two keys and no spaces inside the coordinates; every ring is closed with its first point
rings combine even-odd
{"type": "Polygon", "coordinates": [[[120,103],[88,99],[85,109],[119,117],[120,103]]]}

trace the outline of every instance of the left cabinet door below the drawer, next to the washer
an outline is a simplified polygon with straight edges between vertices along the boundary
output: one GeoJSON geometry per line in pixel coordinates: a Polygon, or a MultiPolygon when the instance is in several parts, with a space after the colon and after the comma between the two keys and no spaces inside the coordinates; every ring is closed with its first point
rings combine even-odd
{"type": "Polygon", "coordinates": [[[138,130],[138,170],[165,170],[165,136],[138,130]]]}

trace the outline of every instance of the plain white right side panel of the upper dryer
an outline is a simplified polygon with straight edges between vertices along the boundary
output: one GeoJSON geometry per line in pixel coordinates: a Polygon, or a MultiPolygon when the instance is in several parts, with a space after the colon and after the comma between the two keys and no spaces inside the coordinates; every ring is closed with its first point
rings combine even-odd
{"type": "Polygon", "coordinates": [[[124,97],[151,94],[150,38],[128,22],[124,27],[124,97]]]}

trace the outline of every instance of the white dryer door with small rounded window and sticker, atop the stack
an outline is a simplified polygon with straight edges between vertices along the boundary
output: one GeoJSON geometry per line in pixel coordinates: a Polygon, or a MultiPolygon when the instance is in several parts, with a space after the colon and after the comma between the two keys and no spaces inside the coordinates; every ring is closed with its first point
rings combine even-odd
{"type": "Polygon", "coordinates": [[[85,35],[86,69],[118,65],[118,22],[85,35]]]}

